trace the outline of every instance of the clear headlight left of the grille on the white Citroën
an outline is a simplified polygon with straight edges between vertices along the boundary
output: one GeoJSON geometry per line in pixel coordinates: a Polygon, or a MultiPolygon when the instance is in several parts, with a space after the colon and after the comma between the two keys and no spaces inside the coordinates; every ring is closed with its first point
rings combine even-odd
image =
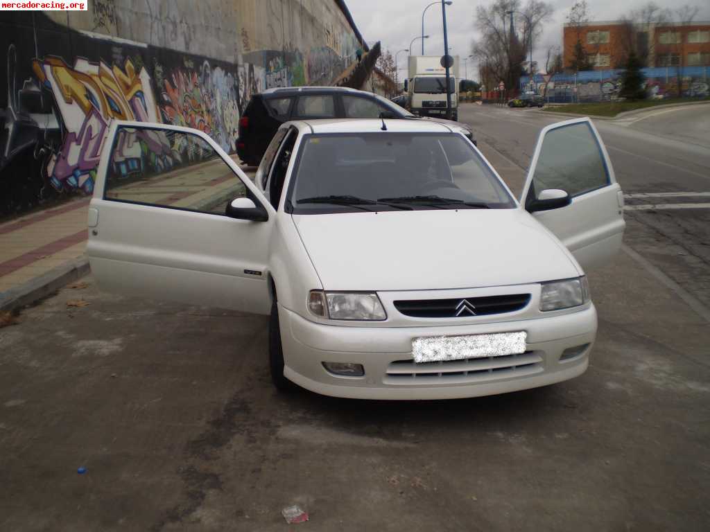
{"type": "Polygon", "coordinates": [[[374,292],[322,292],[308,294],[308,309],[332,320],[382,321],[387,318],[380,298],[374,292]]]}

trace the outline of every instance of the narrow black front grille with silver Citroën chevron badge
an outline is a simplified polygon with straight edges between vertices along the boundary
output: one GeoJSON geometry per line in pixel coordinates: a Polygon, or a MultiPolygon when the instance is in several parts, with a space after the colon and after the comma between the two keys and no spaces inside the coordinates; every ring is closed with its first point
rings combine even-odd
{"type": "Polygon", "coordinates": [[[514,312],[523,309],[529,302],[530,294],[457,299],[403,299],[395,301],[395,309],[413,318],[464,318],[514,312]]]}

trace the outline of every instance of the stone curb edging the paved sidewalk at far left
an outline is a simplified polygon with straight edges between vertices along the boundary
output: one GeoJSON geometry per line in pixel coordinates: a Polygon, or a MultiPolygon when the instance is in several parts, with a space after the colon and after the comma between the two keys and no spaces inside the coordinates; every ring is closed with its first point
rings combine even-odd
{"type": "Polygon", "coordinates": [[[65,284],[84,277],[89,271],[87,257],[67,261],[39,277],[9,289],[7,292],[0,292],[0,311],[12,312],[33,304],[35,301],[57,292],[65,284]]]}

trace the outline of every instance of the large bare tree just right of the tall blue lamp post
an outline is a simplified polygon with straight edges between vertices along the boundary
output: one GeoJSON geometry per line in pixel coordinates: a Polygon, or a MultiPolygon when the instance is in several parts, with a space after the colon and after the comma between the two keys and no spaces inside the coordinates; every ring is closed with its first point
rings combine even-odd
{"type": "MultiPolygon", "coordinates": [[[[481,79],[486,87],[501,80],[506,82],[509,90],[518,87],[530,43],[540,36],[542,23],[550,13],[550,6],[539,0],[529,0],[524,7],[520,0],[495,0],[489,6],[476,8],[476,28],[481,38],[474,41],[471,50],[479,61],[481,79]]],[[[532,65],[530,69],[532,72],[532,65]]]]}

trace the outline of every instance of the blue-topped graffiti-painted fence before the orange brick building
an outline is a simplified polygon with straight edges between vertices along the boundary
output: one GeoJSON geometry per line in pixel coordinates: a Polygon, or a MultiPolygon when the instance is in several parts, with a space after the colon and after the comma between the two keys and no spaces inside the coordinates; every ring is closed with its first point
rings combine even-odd
{"type": "MultiPolygon", "coordinates": [[[[677,96],[709,96],[710,67],[655,67],[641,70],[646,77],[646,92],[650,98],[677,96]]],[[[586,70],[577,73],[554,74],[545,79],[535,74],[520,78],[520,93],[535,92],[551,103],[613,101],[621,90],[623,70],[586,70]]]]}

